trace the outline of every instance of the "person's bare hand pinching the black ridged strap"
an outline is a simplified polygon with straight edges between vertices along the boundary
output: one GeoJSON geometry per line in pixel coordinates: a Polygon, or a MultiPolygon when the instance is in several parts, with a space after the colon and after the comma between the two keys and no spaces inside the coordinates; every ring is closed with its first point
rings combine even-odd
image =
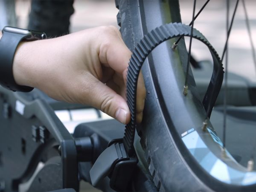
{"type": "MultiPolygon", "coordinates": [[[[36,87],[57,100],[91,105],[127,124],[130,111],[125,101],[125,81],[130,57],[118,29],[101,26],[21,43],[13,73],[17,84],[36,87]]],[[[137,122],[142,121],[144,100],[140,74],[137,122]]]]}

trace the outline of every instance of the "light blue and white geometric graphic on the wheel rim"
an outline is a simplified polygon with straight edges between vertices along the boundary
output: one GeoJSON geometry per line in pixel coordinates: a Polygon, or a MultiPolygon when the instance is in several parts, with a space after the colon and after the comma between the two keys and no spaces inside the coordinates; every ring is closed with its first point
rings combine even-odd
{"type": "MultiPolygon", "coordinates": [[[[215,143],[222,147],[223,144],[215,132],[210,128],[207,128],[207,130],[215,143]]],[[[256,172],[247,172],[245,168],[243,168],[244,170],[238,170],[228,166],[223,160],[216,157],[215,154],[209,150],[198,132],[193,128],[184,132],[182,135],[183,143],[189,149],[189,152],[212,177],[215,177],[224,183],[234,185],[245,186],[256,183],[256,172]]],[[[235,161],[228,152],[227,158],[235,161]]]]}

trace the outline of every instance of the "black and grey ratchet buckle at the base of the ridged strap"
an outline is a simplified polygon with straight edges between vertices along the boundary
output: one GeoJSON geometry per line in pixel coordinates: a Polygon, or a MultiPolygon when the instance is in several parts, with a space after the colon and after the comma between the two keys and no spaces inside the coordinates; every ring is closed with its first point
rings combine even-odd
{"type": "Polygon", "coordinates": [[[129,183],[137,163],[137,156],[129,157],[125,151],[123,139],[112,140],[90,170],[92,185],[97,186],[108,176],[112,189],[129,191],[129,183]]]}

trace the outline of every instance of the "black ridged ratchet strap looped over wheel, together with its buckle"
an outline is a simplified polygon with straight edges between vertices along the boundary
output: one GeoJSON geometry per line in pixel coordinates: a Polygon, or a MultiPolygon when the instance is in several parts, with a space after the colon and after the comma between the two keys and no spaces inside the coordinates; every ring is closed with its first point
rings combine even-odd
{"type": "MultiPolygon", "coordinates": [[[[190,36],[191,27],[182,23],[169,23],[157,27],[140,40],[131,55],[127,73],[127,102],[131,112],[131,122],[125,126],[123,139],[113,140],[108,148],[100,154],[92,169],[90,178],[93,186],[97,186],[106,176],[110,177],[110,186],[116,191],[128,191],[133,170],[137,165],[137,155],[134,151],[134,136],[136,129],[136,95],[137,81],[140,69],[148,54],[157,45],[170,38],[190,36]]],[[[223,80],[223,67],[220,58],[207,39],[198,30],[193,29],[193,38],[207,45],[213,58],[213,73],[203,105],[210,116],[223,80]]],[[[183,87],[181,87],[183,89],[183,87]]]]}

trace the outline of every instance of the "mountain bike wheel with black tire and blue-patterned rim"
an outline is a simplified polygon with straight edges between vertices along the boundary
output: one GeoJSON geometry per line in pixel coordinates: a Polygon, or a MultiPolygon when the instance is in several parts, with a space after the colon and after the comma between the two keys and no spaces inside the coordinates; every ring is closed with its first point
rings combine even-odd
{"type": "MultiPolygon", "coordinates": [[[[123,40],[133,51],[147,32],[181,22],[178,0],[116,0],[123,40]]],[[[189,70],[189,93],[183,95],[187,52],[164,42],[148,55],[142,71],[147,90],[143,122],[137,132],[151,179],[160,191],[253,191],[256,172],[248,172],[226,152],[209,122],[189,70]]],[[[141,157],[140,157],[141,158],[141,157]]]]}

